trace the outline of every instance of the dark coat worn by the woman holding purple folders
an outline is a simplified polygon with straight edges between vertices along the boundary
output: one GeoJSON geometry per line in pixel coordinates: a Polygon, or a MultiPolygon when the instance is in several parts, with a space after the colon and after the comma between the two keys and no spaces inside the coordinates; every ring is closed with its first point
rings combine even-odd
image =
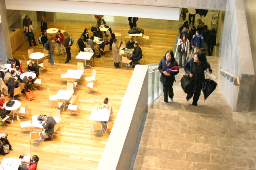
{"type": "Polygon", "coordinates": [[[165,59],[161,59],[159,65],[158,65],[158,70],[161,73],[161,77],[160,77],[160,82],[163,85],[168,85],[171,84],[171,82],[173,82],[175,80],[174,75],[178,74],[179,71],[175,72],[175,73],[171,73],[170,76],[166,76],[165,74],[163,74],[164,71],[166,71],[167,68],[172,68],[173,66],[179,66],[178,62],[175,60],[174,62],[172,62],[168,67],[166,65],[165,59]],[[163,64],[162,64],[163,62],[163,64]]]}

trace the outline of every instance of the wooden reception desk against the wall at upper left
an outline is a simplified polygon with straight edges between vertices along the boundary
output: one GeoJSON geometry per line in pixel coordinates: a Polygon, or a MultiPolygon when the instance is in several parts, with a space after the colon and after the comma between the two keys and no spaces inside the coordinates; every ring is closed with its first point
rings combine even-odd
{"type": "Polygon", "coordinates": [[[13,53],[23,43],[22,30],[20,28],[10,28],[9,34],[13,53]]]}

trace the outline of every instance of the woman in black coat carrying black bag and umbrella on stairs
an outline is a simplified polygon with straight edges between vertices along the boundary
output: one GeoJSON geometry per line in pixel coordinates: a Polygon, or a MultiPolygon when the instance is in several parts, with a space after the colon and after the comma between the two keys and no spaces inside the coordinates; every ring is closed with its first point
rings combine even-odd
{"type": "Polygon", "coordinates": [[[189,100],[193,97],[192,105],[197,106],[197,101],[200,97],[202,90],[202,82],[204,81],[204,70],[209,69],[209,72],[212,73],[210,64],[207,62],[206,56],[201,51],[195,52],[194,57],[184,66],[184,70],[192,81],[191,92],[187,94],[186,99],[189,100]]]}

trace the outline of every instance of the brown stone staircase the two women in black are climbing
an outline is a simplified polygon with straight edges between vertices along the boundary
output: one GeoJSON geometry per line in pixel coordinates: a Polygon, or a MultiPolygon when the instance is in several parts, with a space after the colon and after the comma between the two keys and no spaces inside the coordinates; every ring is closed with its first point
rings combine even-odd
{"type": "MultiPolygon", "coordinates": [[[[207,59],[217,81],[218,58],[207,59]]],[[[256,123],[233,114],[218,87],[205,101],[201,92],[192,106],[181,88],[183,75],[180,69],[173,102],[163,103],[161,95],[149,106],[133,169],[255,169],[256,123]]]]}

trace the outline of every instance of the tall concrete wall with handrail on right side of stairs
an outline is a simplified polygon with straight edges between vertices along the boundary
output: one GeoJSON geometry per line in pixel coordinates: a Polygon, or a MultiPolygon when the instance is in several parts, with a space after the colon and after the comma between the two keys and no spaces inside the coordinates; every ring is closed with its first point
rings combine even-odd
{"type": "Polygon", "coordinates": [[[238,75],[240,86],[219,77],[219,88],[237,112],[248,112],[254,82],[254,67],[243,0],[228,0],[224,19],[220,66],[238,75]],[[239,15],[238,15],[239,14],[239,15]]]}

